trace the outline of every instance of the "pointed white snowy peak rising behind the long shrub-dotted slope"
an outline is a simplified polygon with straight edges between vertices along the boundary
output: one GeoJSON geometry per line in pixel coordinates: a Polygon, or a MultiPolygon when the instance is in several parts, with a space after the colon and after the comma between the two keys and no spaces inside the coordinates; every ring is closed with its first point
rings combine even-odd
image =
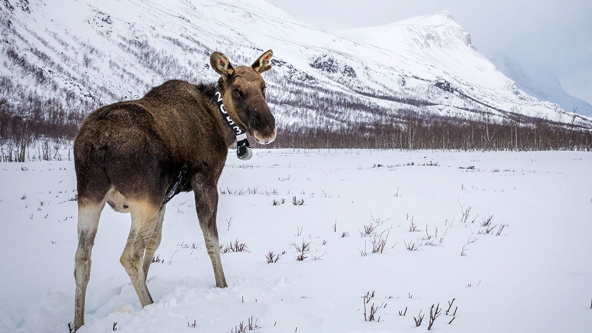
{"type": "Polygon", "coordinates": [[[475,49],[468,31],[453,20],[449,11],[338,32],[388,50],[414,75],[446,81],[445,87],[449,83],[455,92],[491,107],[533,117],[558,118],[559,105],[540,102],[519,89],[475,49]]]}

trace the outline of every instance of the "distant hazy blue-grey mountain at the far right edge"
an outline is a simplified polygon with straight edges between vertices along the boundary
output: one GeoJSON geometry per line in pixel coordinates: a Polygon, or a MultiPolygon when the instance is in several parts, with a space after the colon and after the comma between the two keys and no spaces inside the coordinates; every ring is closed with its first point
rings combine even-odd
{"type": "Polygon", "coordinates": [[[559,104],[569,111],[577,107],[577,113],[592,117],[592,105],[568,94],[561,87],[561,82],[559,82],[557,76],[548,69],[525,68],[503,53],[488,55],[488,58],[501,72],[516,82],[520,89],[540,101],[559,104]]]}

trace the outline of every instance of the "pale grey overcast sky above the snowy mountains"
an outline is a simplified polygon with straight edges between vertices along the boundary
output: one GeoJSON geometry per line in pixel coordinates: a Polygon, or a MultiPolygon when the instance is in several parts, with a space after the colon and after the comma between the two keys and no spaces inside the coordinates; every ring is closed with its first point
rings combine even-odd
{"type": "Polygon", "coordinates": [[[562,87],[592,104],[592,0],[269,0],[317,27],[370,27],[449,9],[485,55],[546,66],[562,87]]]}

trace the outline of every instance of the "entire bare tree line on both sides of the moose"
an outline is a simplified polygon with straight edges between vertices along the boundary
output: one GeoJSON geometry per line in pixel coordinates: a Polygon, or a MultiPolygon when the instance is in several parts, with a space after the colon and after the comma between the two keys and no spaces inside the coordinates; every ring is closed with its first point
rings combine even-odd
{"type": "MultiPolygon", "coordinates": [[[[2,94],[2,89],[11,85],[2,87],[0,147],[3,161],[24,161],[27,148],[39,139],[72,140],[85,118],[81,110],[98,106],[76,104],[78,111],[72,111],[67,110],[62,100],[41,99],[32,94],[25,95],[20,104],[12,105],[2,94]],[[6,155],[7,149],[10,157],[6,155]]],[[[372,122],[343,121],[339,127],[309,127],[300,122],[280,125],[275,142],[263,147],[590,151],[592,131],[538,118],[525,123],[511,119],[497,121],[486,115],[461,119],[401,110],[395,111],[394,116],[372,122]]]]}

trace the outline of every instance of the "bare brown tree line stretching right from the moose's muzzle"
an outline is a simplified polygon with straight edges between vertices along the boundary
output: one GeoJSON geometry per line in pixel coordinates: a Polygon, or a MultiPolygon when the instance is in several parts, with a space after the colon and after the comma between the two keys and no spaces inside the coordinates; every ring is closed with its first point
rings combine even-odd
{"type": "Polygon", "coordinates": [[[287,126],[278,130],[269,148],[590,151],[592,132],[545,119],[525,124],[403,112],[394,123],[349,124],[339,129],[287,126]]]}

